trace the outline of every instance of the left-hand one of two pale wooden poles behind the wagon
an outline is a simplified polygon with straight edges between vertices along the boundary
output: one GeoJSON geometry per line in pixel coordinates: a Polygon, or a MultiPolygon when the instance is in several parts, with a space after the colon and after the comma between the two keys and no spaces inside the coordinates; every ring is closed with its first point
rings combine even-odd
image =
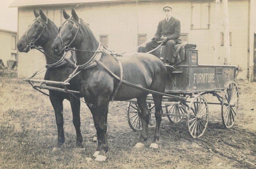
{"type": "Polygon", "coordinates": [[[219,52],[219,46],[220,46],[220,0],[216,0],[215,5],[215,41],[214,41],[214,64],[217,64],[217,61],[219,60],[218,52],[219,52]]]}

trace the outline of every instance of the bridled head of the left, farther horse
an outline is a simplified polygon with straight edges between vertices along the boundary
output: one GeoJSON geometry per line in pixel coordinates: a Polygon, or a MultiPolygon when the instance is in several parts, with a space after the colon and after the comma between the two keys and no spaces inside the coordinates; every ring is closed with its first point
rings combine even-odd
{"type": "Polygon", "coordinates": [[[40,46],[48,39],[48,18],[39,9],[39,14],[34,10],[36,19],[28,26],[26,32],[18,40],[17,48],[20,52],[28,52],[33,45],[40,46]]]}

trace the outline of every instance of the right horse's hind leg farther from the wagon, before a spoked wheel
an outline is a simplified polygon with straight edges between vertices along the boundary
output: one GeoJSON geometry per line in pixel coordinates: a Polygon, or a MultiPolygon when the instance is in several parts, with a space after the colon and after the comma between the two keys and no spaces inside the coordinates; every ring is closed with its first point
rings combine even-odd
{"type": "Polygon", "coordinates": [[[146,103],[146,96],[147,95],[143,95],[143,96],[140,96],[140,97],[137,98],[138,105],[139,105],[139,108],[140,108],[141,113],[142,113],[142,115],[141,115],[142,120],[143,120],[142,133],[140,135],[140,140],[139,140],[141,143],[148,140],[148,123],[149,123],[150,112],[149,112],[149,109],[148,109],[148,106],[147,106],[147,103],[146,103]]]}

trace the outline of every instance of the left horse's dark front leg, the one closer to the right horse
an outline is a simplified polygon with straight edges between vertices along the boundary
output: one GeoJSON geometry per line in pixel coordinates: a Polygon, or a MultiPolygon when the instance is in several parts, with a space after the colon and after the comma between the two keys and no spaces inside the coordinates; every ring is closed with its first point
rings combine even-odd
{"type": "Polygon", "coordinates": [[[80,100],[71,96],[70,97],[70,105],[73,114],[73,124],[76,130],[76,147],[83,147],[82,145],[82,134],[80,130],[81,122],[80,122],[80,100]]]}

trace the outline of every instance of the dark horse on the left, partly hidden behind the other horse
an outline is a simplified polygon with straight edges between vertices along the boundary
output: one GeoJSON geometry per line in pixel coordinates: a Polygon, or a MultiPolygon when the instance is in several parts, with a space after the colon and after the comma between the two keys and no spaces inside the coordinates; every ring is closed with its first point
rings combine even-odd
{"type": "MultiPolygon", "coordinates": [[[[64,81],[66,77],[74,71],[74,67],[65,62],[58,62],[62,57],[55,55],[50,48],[55,36],[57,35],[58,27],[46,17],[41,9],[39,9],[39,14],[36,12],[36,10],[34,10],[34,16],[36,19],[34,19],[31,25],[27,28],[26,32],[18,40],[18,51],[30,51],[30,43],[33,43],[34,46],[41,46],[43,51],[46,53],[45,57],[47,65],[49,66],[44,79],[52,81],[64,81]]],[[[68,86],[69,90],[79,90],[79,76],[80,75],[71,79],[70,85],[68,86]]],[[[80,100],[78,99],[80,96],[77,94],[71,95],[69,93],[49,90],[49,97],[54,108],[58,128],[57,146],[60,147],[65,142],[63,129],[63,100],[67,99],[70,102],[73,114],[73,124],[76,130],[76,146],[83,147],[80,130],[80,100]]]]}

